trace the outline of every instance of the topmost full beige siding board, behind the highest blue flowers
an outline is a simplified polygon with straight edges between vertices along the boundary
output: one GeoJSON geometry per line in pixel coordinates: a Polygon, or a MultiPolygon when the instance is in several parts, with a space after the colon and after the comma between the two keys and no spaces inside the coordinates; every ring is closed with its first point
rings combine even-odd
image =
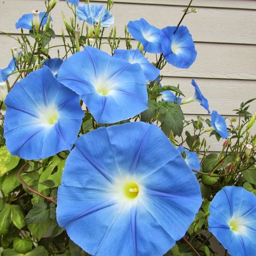
{"type": "MultiPolygon", "coordinates": [[[[0,16],[0,30],[10,33],[20,33],[20,30],[15,28],[15,23],[21,15],[31,12],[32,9],[45,9],[44,0],[1,1],[0,6],[2,13],[7,14],[0,16]],[[14,10],[13,6],[17,6],[17,8],[14,10]],[[12,12],[12,15],[8,15],[10,12],[12,12]]],[[[117,35],[123,38],[124,26],[130,20],[138,20],[141,17],[144,17],[149,23],[158,28],[176,26],[183,15],[183,7],[184,6],[163,7],[160,5],[143,4],[134,6],[134,4],[131,3],[115,2],[111,12],[115,15],[117,35]],[[157,17],[161,18],[159,19],[157,17]]],[[[52,24],[56,35],[60,35],[61,27],[64,27],[61,10],[63,10],[67,20],[69,20],[71,15],[71,11],[65,1],[60,1],[58,6],[53,9],[52,24]]],[[[253,10],[201,7],[197,9],[197,13],[189,14],[183,20],[183,24],[189,28],[189,31],[196,42],[221,42],[232,44],[256,44],[256,29],[253,29],[253,26],[248,26],[248,24],[255,24],[255,22],[256,11],[253,10]]],[[[109,31],[110,28],[107,29],[105,35],[108,35],[109,31]]]]}

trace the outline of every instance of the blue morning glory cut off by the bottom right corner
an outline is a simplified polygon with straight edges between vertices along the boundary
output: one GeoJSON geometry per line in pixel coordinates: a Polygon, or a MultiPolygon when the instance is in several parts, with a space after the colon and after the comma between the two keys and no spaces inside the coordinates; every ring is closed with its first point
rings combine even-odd
{"type": "Polygon", "coordinates": [[[209,231],[232,256],[255,255],[256,195],[242,187],[225,186],[209,207],[209,231]]]}

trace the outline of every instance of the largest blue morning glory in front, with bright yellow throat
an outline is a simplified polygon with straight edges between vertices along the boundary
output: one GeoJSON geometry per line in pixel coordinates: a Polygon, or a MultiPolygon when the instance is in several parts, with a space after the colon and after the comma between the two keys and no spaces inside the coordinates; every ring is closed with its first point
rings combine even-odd
{"type": "Polygon", "coordinates": [[[160,128],[129,122],[76,140],[56,214],[91,255],[160,256],[184,236],[201,201],[198,180],[160,128]]]}

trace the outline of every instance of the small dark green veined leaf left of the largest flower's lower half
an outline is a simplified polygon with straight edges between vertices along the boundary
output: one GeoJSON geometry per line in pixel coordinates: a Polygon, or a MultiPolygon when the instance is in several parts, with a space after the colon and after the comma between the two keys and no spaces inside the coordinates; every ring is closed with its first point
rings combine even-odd
{"type": "Polygon", "coordinates": [[[47,205],[44,202],[40,202],[28,212],[24,220],[27,224],[44,224],[48,217],[49,210],[47,210],[47,205]]]}

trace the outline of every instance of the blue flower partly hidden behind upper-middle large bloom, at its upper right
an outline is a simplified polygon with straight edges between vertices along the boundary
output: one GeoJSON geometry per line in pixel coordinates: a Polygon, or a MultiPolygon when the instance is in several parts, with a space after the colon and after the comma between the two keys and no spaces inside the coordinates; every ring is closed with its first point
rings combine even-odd
{"type": "Polygon", "coordinates": [[[140,52],[139,49],[136,50],[114,50],[114,57],[124,59],[131,64],[138,63],[143,70],[145,78],[147,81],[151,82],[157,78],[160,74],[160,70],[154,67],[145,56],[140,52]]]}

